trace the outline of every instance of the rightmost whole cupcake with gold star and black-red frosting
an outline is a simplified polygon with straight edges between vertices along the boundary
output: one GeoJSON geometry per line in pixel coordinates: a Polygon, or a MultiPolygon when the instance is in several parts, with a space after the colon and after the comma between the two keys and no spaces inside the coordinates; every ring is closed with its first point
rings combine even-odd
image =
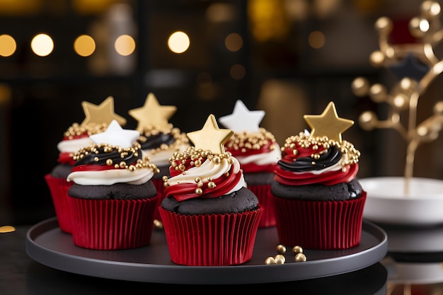
{"type": "Polygon", "coordinates": [[[354,122],[330,102],[304,115],[311,132],[288,137],[271,192],[280,243],[306,249],[346,249],[360,243],[366,192],[357,178],[360,153],[341,133],[354,122]]]}

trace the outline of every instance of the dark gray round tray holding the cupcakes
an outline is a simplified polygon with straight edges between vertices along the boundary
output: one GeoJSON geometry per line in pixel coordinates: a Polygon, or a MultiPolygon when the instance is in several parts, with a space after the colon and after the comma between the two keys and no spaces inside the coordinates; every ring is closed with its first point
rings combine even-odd
{"type": "MultiPolygon", "coordinates": [[[[253,257],[243,265],[197,267],[171,262],[164,232],[154,230],[150,245],[131,250],[90,250],[74,245],[57,219],[35,224],[26,236],[26,253],[33,260],[57,270],[134,282],[165,284],[261,284],[328,277],[360,270],[379,262],[387,253],[383,229],[363,221],[362,240],[345,250],[304,250],[306,262],[285,254],[283,265],[265,265],[277,255],[277,229],[259,229],[253,257]]],[[[290,251],[289,251],[290,252],[290,251]]]]}

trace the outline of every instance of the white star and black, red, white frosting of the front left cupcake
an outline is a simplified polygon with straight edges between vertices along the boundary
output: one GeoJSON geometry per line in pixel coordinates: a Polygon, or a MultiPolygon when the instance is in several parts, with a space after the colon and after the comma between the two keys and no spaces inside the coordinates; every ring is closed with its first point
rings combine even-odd
{"type": "Polygon", "coordinates": [[[137,130],[122,129],[116,120],[92,134],[91,144],[74,154],[76,161],[68,181],[77,185],[139,185],[149,181],[158,168],[142,157],[137,130]]]}

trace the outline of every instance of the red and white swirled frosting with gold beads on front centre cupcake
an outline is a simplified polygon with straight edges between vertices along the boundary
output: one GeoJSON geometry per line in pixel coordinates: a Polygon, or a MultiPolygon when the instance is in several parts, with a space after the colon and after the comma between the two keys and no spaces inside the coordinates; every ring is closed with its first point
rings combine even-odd
{"type": "Polygon", "coordinates": [[[163,177],[165,194],[179,202],[229,195],[246,187],[240,163],[229,152],[212,154],[189,146],[174,153],[169,162],[171,178],[163,177]]]}

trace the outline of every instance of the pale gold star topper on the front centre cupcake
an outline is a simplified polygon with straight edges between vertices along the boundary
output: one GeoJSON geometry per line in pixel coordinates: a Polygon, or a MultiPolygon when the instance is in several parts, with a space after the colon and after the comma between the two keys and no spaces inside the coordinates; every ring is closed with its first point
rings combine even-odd
{"type": "Polygon", "coordinates": [[[203,151],[212,151],[214,154],[224,153],[224,144],[234,134],[230,129],[219,129],[214,115],[209,115],[202,129],[194,132],[189,132],[190,141],[195,146],[195,149],[202,149],[203,151]]]}

